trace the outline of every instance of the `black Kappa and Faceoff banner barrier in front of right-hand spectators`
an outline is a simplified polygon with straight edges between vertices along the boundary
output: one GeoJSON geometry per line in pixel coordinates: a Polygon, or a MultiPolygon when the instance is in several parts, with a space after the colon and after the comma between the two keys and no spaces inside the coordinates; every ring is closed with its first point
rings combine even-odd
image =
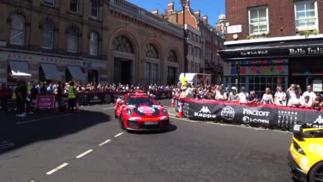
{"type": "Polygon", "coordinates": [[[323,110],[293,108],[278,105],[231,103],[227,101],[178,99],[175,110],[183,104],[184,117],[199,121],[224,121],[251,126],[268,125],[289,130],[293,125],[305,124],[323,128],[323,110]]]}

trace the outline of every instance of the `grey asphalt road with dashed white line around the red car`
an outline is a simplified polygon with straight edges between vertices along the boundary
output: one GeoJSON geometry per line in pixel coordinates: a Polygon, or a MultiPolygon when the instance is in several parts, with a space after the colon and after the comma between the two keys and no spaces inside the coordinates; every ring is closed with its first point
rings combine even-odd
{"type": "Polygon", "coordinates": [[[0,150],[0,181],[292,181],[291,133],[175,117],[168,132],[126,132],[113,114],[93,105],[20,121],[14,147],[0,150]]]}

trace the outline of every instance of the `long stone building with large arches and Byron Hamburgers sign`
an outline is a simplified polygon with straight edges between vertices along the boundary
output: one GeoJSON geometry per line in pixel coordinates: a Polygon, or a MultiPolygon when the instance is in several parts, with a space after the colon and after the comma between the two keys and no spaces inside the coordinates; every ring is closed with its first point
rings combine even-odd
{"type": "Polygon", "coordinates": [[[0,10],[0,82],[166,84],[182,72],[181,29],[126,1],[8,0],[0,10]]]}

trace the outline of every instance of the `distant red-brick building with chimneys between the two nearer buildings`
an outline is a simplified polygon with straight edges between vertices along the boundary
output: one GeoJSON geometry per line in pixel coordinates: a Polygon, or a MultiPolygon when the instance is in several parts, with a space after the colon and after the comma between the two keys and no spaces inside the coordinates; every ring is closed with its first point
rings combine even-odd
{"type": "Polygon", "coordinates": [[[183,10],[174,10],[174,2],[168,3],[164,19],[185,28],[186,31],[186,72],[212,74],[212,83],[222,83],[223,61],[217,50],[224,48],[225,37],[208,23],[208,17],[202,16],[199,10],[191,10],[187,1],[183,10]],[[183,15],[185,22],[183,23],[183,15]]]}

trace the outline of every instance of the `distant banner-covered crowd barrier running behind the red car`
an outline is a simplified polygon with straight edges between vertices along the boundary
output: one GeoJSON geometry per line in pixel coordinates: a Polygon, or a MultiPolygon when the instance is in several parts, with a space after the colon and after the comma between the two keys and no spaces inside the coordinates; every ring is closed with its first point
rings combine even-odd
{"type": "MultiPolygon", "coordinates": [[[[154,94],[157,99],[170,99],[172,97],[172,92],[173,90],[152,90],[150,93],[154,94]]],[[[106,104],[114,103],[120,96],[128,93],[129,92],[82,92],[77,93],[77,99],[79,100],[79,105],[106,104]]],[[[35,108],[55,108],[55,97],[55,94],[37,95],[37,100],[32,102],[32,105],[35,105],[35,108]]],[[[17,104],[15,99],[6,99],[6,101],[8,110],[16,109],[17,104]]],[[[66,101],[67,95],[63,94],[59,99],[59,108],[65,108],[66,101]]]]}

